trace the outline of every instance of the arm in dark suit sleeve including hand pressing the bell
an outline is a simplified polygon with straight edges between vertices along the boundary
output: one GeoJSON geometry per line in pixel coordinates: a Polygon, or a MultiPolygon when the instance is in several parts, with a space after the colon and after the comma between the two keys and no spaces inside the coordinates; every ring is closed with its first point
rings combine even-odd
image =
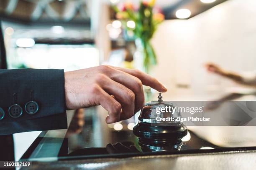
{"type": "Polygon", "coordinates": [[[66,108],[102,105],[109,112],[106,122],[119,122],[143,106],[143,85],[167,91],[158,80],[139,70],[107,65],[65,74],[51,69],[0,70],[0,82],[0,107],[6,112],[0,120],[0,135],[67,128],[66,108]]]}

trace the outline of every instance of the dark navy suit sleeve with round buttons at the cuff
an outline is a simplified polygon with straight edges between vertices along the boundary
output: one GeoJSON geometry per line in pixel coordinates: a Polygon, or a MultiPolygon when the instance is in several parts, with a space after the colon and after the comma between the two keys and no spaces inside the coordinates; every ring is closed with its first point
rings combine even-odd
{"type": "Polygon", "coordinates": [[[5,113],[0,135],[67,128],[64,70],[0,69],[0,107],[5,113]],[[34,103],[38,105],[36,113],[29,110],[35,112],[34,103]],[[13,117],[19,108],[22,114],[13,117]]]}

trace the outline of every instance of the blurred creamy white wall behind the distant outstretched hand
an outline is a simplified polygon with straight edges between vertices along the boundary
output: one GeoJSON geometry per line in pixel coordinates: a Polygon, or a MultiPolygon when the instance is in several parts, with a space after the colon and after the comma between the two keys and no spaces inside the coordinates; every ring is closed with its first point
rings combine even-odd
{"type": "Polygon", "coordinates": [[[233,82],[207,73],[203,65],[256,70],[256,0],[228,0],[189,20],[166,20],[152,44],[159,58],[154,74],[169,88],[168,96],[177,84],[189,84],[195,96],[225,91],[233,82]]]}

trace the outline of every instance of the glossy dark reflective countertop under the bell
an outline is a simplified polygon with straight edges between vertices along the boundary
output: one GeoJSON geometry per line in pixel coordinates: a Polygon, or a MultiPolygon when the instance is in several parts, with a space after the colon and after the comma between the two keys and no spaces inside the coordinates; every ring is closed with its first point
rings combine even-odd
{"type": "Polygon", "coordinates": [[[167,140],[139,140],[132,128],[128,128],[131,123],[136,122],[138,115],[115,125],[106,125],[104,115],[105,112],[99,108],[75,112],[69,120],[69,130],[44,132],[23,155],[22,160],[129,157],[166,152],[205,153],[230,148],[241,150],[241,147],[246,147],[243,150],[250,150],[250,147],[256,146],[256,128],[253,126],[190,126],[187,135],[181,140],[172,136],[167,140]],[[122,129],[118,130],[116,127],[122,129]]]}

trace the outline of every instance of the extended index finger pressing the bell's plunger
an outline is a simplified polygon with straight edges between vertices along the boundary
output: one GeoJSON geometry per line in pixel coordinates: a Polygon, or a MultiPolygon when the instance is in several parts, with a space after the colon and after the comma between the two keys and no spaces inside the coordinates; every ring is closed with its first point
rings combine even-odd
{"type": "Polygon", "coordinates": [[[159,82],[156,78],[151,77],[150,75],[136,69],[127,69],[121,67],[115,67],[115,69],[126,72],[130,75],[133,75],[141,80],[143,85],[150,86],[159,92],[166,92],[167,88],[159,82]]]}

